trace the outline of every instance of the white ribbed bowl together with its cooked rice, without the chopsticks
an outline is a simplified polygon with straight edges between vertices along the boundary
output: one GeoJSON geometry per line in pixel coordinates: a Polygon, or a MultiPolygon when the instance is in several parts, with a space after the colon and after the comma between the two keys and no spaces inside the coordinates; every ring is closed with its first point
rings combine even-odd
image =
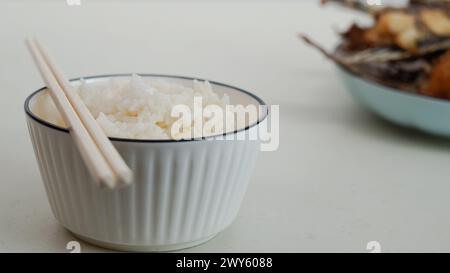
{"type": "Polygon", "coordinates": [[[48,90],[33,92],[25,101],[28,128],[50,207],[63,227],[109,249],[169,251],[206,242],[231,225],[260,150],[259,138],[250,136],[267,122],[260,98],[180,76],[121,74],[71,83],[134,181],[114,190],[97,185],[48,90]],[[239,119],[227,111],[230,105],[259,110],[239,119]],[[213,120],[220,111],[199,113],[199,107],[224,111],[213,120]],[[192,111],[180,122],[183,109],[192,111]]]}

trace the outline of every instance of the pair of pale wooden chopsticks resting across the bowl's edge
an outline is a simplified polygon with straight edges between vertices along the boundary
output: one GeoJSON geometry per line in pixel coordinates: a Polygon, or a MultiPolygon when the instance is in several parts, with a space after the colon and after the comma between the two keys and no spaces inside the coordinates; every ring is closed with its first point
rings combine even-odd
{"type": "Polygon", "coordinates": [[[27,39],[26,44],[89,172],[108,188],[130,184],[133,173],[67,78],[37,39],[27,39]]]}

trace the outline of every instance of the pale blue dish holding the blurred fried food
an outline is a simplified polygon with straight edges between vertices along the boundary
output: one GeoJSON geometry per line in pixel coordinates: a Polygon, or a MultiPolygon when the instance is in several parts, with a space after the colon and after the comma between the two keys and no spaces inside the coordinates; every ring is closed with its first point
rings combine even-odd
{"type": "Polygon", "coordinates": [[[338,67],[348,91],[362,105],[398,125],[450,137],[450,101],[382,86],[338,67]]]}

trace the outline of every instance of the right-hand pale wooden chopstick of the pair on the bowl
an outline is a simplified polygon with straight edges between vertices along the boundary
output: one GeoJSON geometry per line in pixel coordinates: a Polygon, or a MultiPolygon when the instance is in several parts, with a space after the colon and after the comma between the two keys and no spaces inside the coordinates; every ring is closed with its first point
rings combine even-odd
{"type": "Polygon", "coordinates": [[[119,152],[105,135],[98,123],[95,121],[86,104],[84,104],[84,102],[81,100],[78,93],[75,92],[72,85],[69,83],[69,80],[63,74],[62,70],[58,68],[58,66],[44,49],[42,44],[39,43],[36,38],[34,38],[33,41],[37,48],[40,50],[50,70],[53,72],[53,75],[66,94],[67,99],[72,104],[72,107],[77,112],[78,117],[81,119],[81,122],[90,133],[92,139],[97,144],[106,161],[108,161],[109,165],[117,174],[121,182],[125,184],[131,184],[131,182],[133,181],[133,173],[130,168],[127,166],[123,158],[120,156],[119,152]]]}

